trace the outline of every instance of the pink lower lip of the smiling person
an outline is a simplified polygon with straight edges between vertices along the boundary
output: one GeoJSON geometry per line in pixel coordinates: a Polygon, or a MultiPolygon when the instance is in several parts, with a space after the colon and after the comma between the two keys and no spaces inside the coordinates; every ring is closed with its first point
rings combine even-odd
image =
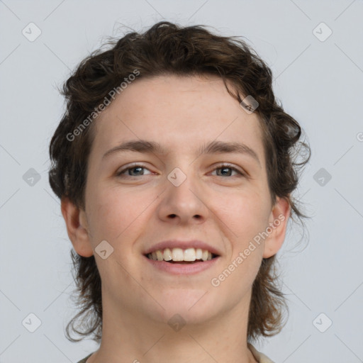
{"type": "Polygon", "coordinates": [[[214,257],[213,259],[209,259],[203,262],[194,262],[194,264],[173,264],[166,261],[156,261],[155,259],[150,259],[144,256],[153,267],[160,269],[160,271],[168,272],[169,274],[175,275],[191,275],[198,274],[199,272],[205,271],[206,269],[210,269],[216,264],[218,257],[214,257]]]}

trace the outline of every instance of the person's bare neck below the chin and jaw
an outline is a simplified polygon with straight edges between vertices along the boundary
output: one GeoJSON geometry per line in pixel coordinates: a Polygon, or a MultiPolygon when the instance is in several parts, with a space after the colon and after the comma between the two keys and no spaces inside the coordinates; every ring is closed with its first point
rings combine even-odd
{"type": "Polygon", "coordinates": [[[101,345],[87,363],[257,362],[247,347],[248,305],[246,309],[244,303],[218,318],[188,322],[173,330],[168,324],[107,301],[103,301],[101,345]]]}

